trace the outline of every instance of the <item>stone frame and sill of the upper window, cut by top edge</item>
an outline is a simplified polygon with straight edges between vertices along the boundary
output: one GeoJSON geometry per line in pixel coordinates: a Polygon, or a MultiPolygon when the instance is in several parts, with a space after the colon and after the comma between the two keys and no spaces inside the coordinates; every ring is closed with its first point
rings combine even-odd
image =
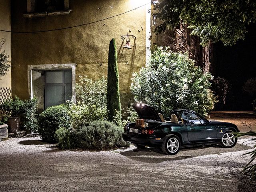
{"type": "Polygon", "coordinates": [[[27,13],[23,14],[26,18],[34,17],[46,17],[46,16],[58,16],[58,15],[69,15],[71,9],[69,9],[69,0],[64,0],[64,10],[56,10],[55,12],[35,12],[36,0],[27,0],[27,13]]]}

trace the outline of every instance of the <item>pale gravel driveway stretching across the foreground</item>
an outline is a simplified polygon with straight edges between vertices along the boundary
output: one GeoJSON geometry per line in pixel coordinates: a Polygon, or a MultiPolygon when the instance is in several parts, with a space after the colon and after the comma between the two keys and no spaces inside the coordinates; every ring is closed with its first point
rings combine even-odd
{"type": "Polygon", "coordinates": [[[239,173],[249,149],[188,148],[166,156],[154,148],[71,151],[40,137],[12,138],[0,142],[0,191],[255,192],[256,183],[239,173]]]}

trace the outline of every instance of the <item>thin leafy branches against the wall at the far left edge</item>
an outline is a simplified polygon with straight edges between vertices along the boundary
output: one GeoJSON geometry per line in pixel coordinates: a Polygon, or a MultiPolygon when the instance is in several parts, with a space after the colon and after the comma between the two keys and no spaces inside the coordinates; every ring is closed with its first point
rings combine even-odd
{"type": "Polygon", "coordinates": [[[0,41],[0,77],[5,76],[11,67],[9,55],[6,54],[5,50],[1,52],[5,41],[4,38],[0,41]]]}

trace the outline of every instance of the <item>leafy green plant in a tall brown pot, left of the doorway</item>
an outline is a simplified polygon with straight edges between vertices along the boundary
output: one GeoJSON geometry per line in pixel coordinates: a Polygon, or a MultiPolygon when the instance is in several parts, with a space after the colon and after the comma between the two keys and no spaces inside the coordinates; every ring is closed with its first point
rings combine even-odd
{"type": "Polygon", "coordinates": [[[20,124],[20,112],[22,112],[24,107],[24,101],[20,100],[17,96],[14,96],[13,99],[6,100],[1,104],[1,108],[5,110],[10,117],[8,117],[8,132],[16,133],[20,124]]]}

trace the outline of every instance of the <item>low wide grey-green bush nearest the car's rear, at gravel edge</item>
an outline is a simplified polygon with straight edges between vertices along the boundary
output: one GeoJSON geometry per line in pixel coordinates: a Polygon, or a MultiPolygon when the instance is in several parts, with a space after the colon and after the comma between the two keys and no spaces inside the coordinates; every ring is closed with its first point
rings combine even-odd
{"type": "Polygon", "coordinates": [[[73,132],[60,128],[55,136],[62,149],[106,150],[129,146],[122,139],[122,132],[114,123],[100,120],[81,123],[80,129],[73,132]]]}

